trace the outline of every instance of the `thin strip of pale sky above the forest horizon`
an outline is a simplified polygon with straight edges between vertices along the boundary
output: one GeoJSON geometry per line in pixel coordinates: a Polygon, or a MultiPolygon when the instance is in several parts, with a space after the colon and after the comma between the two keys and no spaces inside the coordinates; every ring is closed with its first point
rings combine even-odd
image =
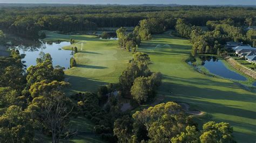
{"type": "Polygon", "coordinates": [[[256,0],[0,0],[0,3],[256,5],[256,0]]]}

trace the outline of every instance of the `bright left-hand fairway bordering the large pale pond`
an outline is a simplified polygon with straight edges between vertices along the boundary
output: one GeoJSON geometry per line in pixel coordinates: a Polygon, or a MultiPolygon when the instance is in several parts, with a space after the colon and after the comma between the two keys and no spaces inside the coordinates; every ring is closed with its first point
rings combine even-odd
{"type": "Polygon", "coordinates": [[[48,32],[45,41],[69,41],[76,44],[63,47],[77,47],[77,67],[65,71],[66,79],[72,84],[68,94],[80,91],[97,91],[99,85],[117,83],[120,73],[127,66],[132,54],[117,48],[116,40],[102,40],[93,35],[63,35],[48,32]],[[81,46],[82,50],[81,50],[81,46]]]}

